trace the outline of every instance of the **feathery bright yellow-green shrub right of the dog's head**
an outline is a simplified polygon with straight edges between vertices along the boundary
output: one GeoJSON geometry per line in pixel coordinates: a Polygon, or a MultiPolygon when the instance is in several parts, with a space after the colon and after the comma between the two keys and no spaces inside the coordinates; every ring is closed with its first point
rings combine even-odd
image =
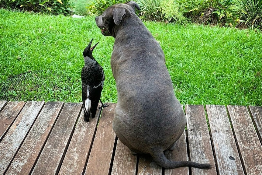
{"type": "Polygon", "coordinates": [[[163,0],[160,2],[162,18],[168,22],[185,23],[186,18],[179,11],[179,5],[174,0],[163,0]]]}

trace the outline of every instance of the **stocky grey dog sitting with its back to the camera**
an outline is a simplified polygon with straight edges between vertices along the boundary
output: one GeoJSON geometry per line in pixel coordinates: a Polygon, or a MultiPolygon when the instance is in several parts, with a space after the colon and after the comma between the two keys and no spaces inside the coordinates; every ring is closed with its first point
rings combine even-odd
{"type": "Polygon", "coordinates": [[[164,155],[175,148],[186,117],[174,95],[164,52],[135,8],[140,10],[134,1],[115,4],[95,18],[102,34],[115,38],[111,68],[118,101],[113,130],[133,154],[150,154],[162,167],[209,169],[210,164],[170,161],[164,155]]]}

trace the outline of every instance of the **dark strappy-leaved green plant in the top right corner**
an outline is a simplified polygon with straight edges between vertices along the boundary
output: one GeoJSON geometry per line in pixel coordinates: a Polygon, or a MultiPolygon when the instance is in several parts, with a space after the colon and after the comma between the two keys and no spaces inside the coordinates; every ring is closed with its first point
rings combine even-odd
{"type": "Polygon", "coordinates": [[[262,0],[241,0],[239,7],[242,12],[242,20],[253,28],[262,28],[262,0]]]}

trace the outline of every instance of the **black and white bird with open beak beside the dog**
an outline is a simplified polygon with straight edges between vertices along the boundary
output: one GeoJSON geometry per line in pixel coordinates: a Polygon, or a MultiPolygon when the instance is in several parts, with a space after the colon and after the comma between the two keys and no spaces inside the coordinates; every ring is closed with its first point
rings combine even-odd
{"type": "MultiPolygon", "coordinates": [[[[103,68],[98,64],[92,55],[95,46],[91,47],[93,38],[84,49],[84,67],[81,72],[82,80],[82,101],[84,108],[84,121],[88,122],[91,117],[95,117],[96,110],[98,109],[99,100],[103,89],[105,75],[103,68]]],[[[102,103],[102,107],[107,107],[102,103]]]]}

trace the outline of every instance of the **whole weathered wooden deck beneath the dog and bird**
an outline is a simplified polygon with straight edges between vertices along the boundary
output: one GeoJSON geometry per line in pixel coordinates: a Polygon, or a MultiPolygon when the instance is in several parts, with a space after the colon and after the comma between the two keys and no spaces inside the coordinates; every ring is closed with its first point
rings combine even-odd
{"type": "Polygon", "coordinates": [[[115,106],[86,123],[81,103],[0,101],[0,175],[262,174],[262,107],[186,105],[187,131],[165,154],[213,168],[165,170],[118,141],[115,106]]]}

